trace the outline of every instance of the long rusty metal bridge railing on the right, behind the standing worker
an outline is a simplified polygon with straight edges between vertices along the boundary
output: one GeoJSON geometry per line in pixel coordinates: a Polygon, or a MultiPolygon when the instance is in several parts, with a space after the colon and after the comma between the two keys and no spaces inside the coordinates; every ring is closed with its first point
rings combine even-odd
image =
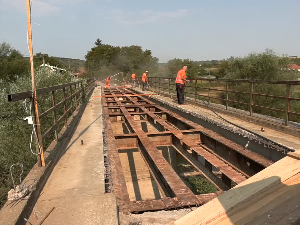
{"type": "MultiPolygon", "coordinates": [[[[138,80],[141,83],[141,78],[138,80]]],[[[176,94],[175,78],[148,77],[148,83],[158,93],[176,94]]],[[[195,102],[205,100],[208,105],[222,104],[226,110],[230,106],[243,109],[250,116],[255,112],[268,116],[279,113],[286,126],[291,118],[300,122],[300,81],[190,79],[190,83],[186,83],[185,96],[195,102]],[[268,91],[270,88],[272,91],[268,91]]]]}

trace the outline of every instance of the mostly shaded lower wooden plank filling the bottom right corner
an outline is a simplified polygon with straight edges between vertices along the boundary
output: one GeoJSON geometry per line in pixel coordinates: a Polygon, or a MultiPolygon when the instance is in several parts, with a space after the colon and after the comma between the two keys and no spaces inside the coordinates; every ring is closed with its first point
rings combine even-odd
{"type": "Polygon", "coordinates": [[[299,186],[297,174],[209,224],[290,224],[296,219],[291,213],[300,210],[299,186]]]}

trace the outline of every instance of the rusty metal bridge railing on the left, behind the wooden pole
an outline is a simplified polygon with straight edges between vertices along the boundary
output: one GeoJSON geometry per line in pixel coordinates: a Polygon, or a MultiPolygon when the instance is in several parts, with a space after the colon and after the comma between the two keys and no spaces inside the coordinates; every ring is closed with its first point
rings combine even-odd
{"type": "MultiPolygon", "coordinates": [[[[89,96],[94,87],[94,79],[87,80],[86,85],[83,81],[66,83],[51,87],[40,88],[36,90],[39,115],[34,114],[32,104],[32,91],[14,93],[8,95],[8,101],[26,101],[31,102],[31,116],[39,116],[41,133],[35,135],[40,140],[36,142],[37,152],[40,153],[40,147],[51,143],[54,139],[58,140],[59,131],[67,126],[70,116],[78,111],[79,106],[89,96]]],[[[35,121],[33,119],[33,121],[35,121]]],[[[42,148],[43,149],[43,148],[42,148]]],[[[40,162],[38,156],[38,162],[40,162]]]]}

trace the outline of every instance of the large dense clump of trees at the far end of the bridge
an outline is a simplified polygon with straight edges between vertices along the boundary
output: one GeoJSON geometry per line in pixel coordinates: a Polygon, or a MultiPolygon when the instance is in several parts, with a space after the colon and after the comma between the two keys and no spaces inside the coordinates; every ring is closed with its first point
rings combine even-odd
{"type": "Polygon", "coordinates": [[[136,73],[142,76],[145,70],[155,73],[158,68],[158,59],[152,56],[151,50],[140,46],[112,46],[103,44],[100,39],[95,42],[95,47],[85,56],[85,67],[90,75],[106,78],[116,72],[125,74],[136,73]]]}

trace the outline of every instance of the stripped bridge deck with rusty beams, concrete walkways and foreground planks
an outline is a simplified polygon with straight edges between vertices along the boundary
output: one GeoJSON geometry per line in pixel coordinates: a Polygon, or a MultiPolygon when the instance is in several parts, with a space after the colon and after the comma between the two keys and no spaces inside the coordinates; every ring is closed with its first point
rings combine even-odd
{"type": "MultiPolygon", "coordinates": [[[[86,93],[75,85],[42,113],[65,109],[42,135],[55,134],[46,167],[23,181],[36,180],[26,199],[3,207],[3,224],[300,223],[299,141],[289,134],[298,128],[262,131],[261,118],[250,122],[195,99],[179,106],[170,82],[169,91],[95,83],[86,93]],[[81,94],[89,101],[77,105],[81,94]]],[[[48,91],[59,88],[66,87],[48,91]]]]}

